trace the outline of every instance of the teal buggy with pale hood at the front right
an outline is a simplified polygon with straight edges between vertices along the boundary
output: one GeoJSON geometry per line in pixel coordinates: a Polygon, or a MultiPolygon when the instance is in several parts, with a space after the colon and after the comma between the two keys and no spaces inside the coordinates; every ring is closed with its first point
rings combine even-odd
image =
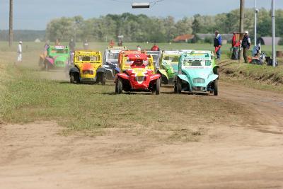
{"type": "Polygon", "coordinates": [[[174,78],[174,92],[210,92],[218,95],[218,75],[214,74],[214,56],[211,51],[183,53],[174,78]]]}

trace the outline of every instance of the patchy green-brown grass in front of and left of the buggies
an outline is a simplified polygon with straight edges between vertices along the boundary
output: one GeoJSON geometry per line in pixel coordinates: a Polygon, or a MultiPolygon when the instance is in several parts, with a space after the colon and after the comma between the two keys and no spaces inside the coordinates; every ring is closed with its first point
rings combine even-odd
{"type": "MultiPolygon", "coordinates": [[[[91,45],[96,48],[101,44],[91,45]]],[[[105,46],[97,48],[103,50],[105,46]]],[[[3,44],[1,48],[2,122],[24,124],[56,120],[69,131],[88,134],[118,129],[158,139],[194,141],[206,130],[205,127],[193,127],[194,122],[202,120],[203,125],[241,122],[235,114],[246,114],[237,103],[214,96],[175,95],[172,87],[162,88],[160,96],[148,93],[115,95],[113,81],[108,81],[106,86],[69,84],[63,71],[38,69],[42,44],[28,44],[22,64],[14,64],[15,52],[4,49],[3,44]]]]}

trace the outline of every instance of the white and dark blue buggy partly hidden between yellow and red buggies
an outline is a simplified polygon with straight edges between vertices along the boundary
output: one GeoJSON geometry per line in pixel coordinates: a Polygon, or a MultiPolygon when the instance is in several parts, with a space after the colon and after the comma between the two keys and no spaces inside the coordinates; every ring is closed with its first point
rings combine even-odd
{"type": "Polygon", "coordinates": [[[115,79],[115,74],[120,72],[118,57],[122,50],[127,50],[127,48],[111,46],[104,51],[103,68],[105,68],[106,71],[106,79],[115,79]]]}

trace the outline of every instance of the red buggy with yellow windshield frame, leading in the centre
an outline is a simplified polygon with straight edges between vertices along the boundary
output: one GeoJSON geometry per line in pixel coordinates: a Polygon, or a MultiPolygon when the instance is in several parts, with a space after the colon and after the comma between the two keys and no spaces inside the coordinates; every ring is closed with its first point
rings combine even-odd
{"type": "MultiPolygon", "coordinates": [[[[122,52],[120,52],[120,55],[122,52]]],[[[122,91],[146,91],[160,93],[160,74],[155,74],[151,55],[144,53],[123,54],[120,73],[115,76],[115,93],[122,91]]]]}

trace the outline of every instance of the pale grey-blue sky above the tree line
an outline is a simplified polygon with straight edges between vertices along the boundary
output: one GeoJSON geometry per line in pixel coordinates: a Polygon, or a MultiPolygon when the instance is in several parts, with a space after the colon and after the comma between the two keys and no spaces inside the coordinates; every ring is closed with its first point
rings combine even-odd
{"type": "MultiPolygon", "coordinates": [[[[240,0],[164,0],[149,9],[132,9],[133,0],[13,0],[14,29],[45,30],[52,18],[77,16],[93,18],[108,13],[144,13],[147,16],[214,15],[239,7],[240,0]]],[[[146,1],[146,0],[144,0],[146,1]]],[[[154,0],[147,0],[154,1],[154,0]]],[[[257,0],[258,7],[270,9],[271,0],[257,0]]],[[[140,2],[140,1],[135,1],[140,2]]],[[[276,8],[283,9],[283,0],[275,0],[276,8]]],[[[0,30],[8,28],[9,0],[0,1],[0,30]]],[[[246,0],[246,7],[254,6],[254,0],[246,0]]]]}

